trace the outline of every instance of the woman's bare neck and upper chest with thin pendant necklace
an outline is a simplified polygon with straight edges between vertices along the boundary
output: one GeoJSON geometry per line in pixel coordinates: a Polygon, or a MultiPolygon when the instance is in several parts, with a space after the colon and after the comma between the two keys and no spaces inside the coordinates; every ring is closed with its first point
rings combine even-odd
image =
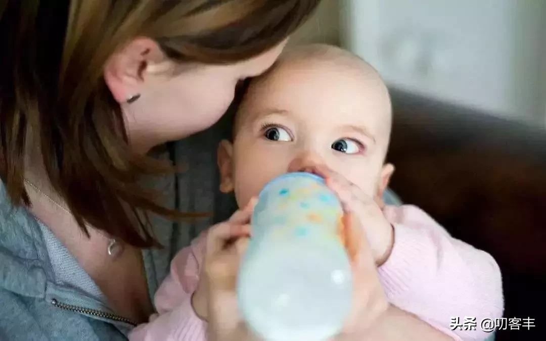
{"type": "Polygon", "coordinates": [[[26,146],[25,178],[38,188],[37,191],[28,184],[26,186],[32,203],[29,211],[48,226],[74,256],[108,298],[110,308],[131,320],[146,321],[153,307],[140,250],[125,245],[125,251],[112,259],[107,253],[110,243],[108,236],[92,228],[88,229],[88,237],[84,235],[72,215],[60,207],[66,208],[67,205],[49,181],[39,143],[31,139],[27,140],[26,146]],[[116,273],[116,276],[111,276],[112,273],[116,273]]]}

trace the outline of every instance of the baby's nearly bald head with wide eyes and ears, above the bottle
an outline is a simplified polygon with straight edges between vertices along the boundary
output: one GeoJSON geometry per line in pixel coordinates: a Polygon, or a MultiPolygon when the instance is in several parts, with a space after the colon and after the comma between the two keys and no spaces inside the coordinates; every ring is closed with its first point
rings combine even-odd
{"type": "Polygon", "coordinates": [[[218,151],[221,190],[239,207],[289,171],[326,165],[370,196],[381,195],[390,101],[371,69],[332,62],[282,61],[254,81],[236,118],[234,142],[218,151]]]}

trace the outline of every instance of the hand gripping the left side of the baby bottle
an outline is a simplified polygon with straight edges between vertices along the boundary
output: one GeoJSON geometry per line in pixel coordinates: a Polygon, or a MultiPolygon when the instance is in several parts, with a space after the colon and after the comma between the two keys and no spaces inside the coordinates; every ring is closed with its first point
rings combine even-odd
{"type": "Polygon", "coordinates": [[[209,322],[208,340],[254,340],[239,315],[235,284],[250,236],[256,200],[207,232],[204,271],[192,297],[195,313],[209,322]]]}

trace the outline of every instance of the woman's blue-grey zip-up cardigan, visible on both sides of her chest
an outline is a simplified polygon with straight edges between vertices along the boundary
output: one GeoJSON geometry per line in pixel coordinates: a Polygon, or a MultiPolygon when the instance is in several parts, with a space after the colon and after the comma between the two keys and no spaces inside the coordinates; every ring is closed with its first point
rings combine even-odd
{"type": "MultiPolygon", "coordinates": [[[[236,208],[232,196],[218,191],[215,151],[222,135],[216,126],[172,143],[161,155],[187,165],[182,174],[153,183],[166,189],[167,204],[213,216],[183,223],[155,218],[165,248],[143,250],[151,297],[174,254],[236,208]]],[[[390,193],[385,200],[397,201],[390,193]]],[[[126,340],[132,327],[108,308],[97,285],[49,229],[25,208],[10,205],[0,182],[0,340],[126,340]]]]}

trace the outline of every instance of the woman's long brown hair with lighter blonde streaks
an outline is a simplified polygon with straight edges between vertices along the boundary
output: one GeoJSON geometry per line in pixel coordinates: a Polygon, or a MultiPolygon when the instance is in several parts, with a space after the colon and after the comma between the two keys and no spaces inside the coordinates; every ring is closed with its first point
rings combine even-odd
{"type": "Polygon", "coordinates": [[[156,246],[147,213],[168,210],[138,184],[171,168],[132,153],[103,67],[136,37],[171,59],[233,63],[281,43],[320,0],[4,0],[0,2],[0,177],[29,206],[25,153],[40,147],[76,221],[136,247],[156,246]]]}

